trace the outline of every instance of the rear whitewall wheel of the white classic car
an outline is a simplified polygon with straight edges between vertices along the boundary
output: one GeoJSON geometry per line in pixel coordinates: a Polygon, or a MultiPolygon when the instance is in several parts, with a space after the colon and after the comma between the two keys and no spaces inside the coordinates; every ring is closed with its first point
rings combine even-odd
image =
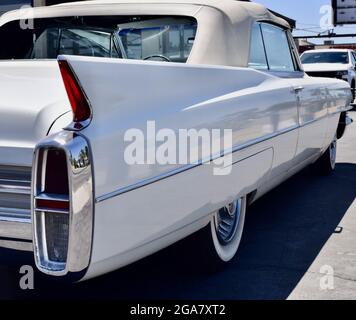
{"type": "Polygon", "coordinates": [[[224,262],[232,260],[240,246],[245,224],[246,197],[217,211],[211,220],[211,235],[215,252],[224,262]]]}

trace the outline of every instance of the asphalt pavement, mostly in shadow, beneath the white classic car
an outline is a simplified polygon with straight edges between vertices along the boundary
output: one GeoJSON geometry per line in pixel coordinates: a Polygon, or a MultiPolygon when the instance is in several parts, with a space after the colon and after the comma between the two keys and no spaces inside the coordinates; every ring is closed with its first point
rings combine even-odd
{"type": "Polygon", "coordinates": [[[34,290],[19,285],[32,254],[0,241],[0,298],[356,299],[356,123],[339,141],[332,175],[307,168],[249,208],[241,248],[226,268],[204,272],[194,241],[79,284],[36,272],[34,290]]]}

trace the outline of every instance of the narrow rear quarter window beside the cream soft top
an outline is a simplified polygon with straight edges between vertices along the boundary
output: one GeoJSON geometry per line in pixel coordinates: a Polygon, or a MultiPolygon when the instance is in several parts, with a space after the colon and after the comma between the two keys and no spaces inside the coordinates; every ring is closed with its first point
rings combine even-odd
{"type": "Polygon", "coordinates": [[[252,27],[250,58],[248,66],[258,70],[268,70],[261,26],[259,23],[255,23],[252,27]]]}

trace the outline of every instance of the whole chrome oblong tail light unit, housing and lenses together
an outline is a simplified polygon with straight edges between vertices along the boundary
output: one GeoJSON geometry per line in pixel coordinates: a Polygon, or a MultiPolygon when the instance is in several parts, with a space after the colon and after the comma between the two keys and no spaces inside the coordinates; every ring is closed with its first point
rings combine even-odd
{"type": "Polygon", "coordinates": [[[41,141],[32,169],[31,212],[38,269],[81,278],[90,264],[94,195],[90,147],[62,131],[41,141]]]}

